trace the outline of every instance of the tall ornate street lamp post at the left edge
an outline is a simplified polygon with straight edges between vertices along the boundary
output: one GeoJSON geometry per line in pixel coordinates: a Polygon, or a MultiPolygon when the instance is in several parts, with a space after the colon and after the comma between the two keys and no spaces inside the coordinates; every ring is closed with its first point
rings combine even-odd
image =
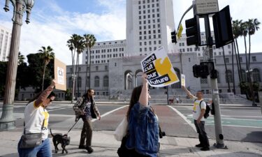
{"type": "Polygon", "coordinates": [[[20,33],[22,26],[22,17],[24,11],[27,12],[27,24],[29,24],[29,16],[34,6],[34,0],[6,0],[3,8],[9,11],[9,2],[13,5],[13,29],[10,43],[10,53],[8,58],[8,68],[6,75],[5,94],[3,99],[3,110],[0,119],[0,130],[10,130],[15,128],[15,119],[13,117],[13,103],[15,99],[15,82],[17,75],[17,60],[20,46],[20,33]]]}

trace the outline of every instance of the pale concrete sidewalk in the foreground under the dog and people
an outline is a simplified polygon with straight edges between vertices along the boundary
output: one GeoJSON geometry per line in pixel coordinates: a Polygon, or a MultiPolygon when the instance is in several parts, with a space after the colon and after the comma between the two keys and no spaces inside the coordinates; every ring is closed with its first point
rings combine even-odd
{"type": "MultiPolygon", "coordinates": [[[[53,133],[66,133],[65,130],[52,130],[53,133]]],[[[115,140],[112,135],[113,131],[94,131],[92,147],[94,152],[87,154],[85,149],[78,149],[80,140],[79,129],[71,130],[68,134],[71,137],[71,144],[66,147],[68,154],[61,154],[61,145],[59,151],[54,154],[54,146],[52,145],[53,156],[117,156],[117,149],[120,142],[115,140]]],[[[15,157],[17,155],[17,142],[22,134],[22,128],[15,128],[14,130],[0,132],[0,157],[15,157]]],[[[52,138],[50,138],[52,141],[52,138]]],[[[225,141],[228,149],[217,149],[210,147],[210,151],[200,151],[199,148],[194,147],[198,144],[198,139],[187,137],[163,137],[161,139],[161,150],[159,156],[245,156],[256,157],[262,156],[262,143],[252,142],[233,142],[225,141]]],[[[215,140],[210,140],[210,144],[214,144],[215,140]]]]}

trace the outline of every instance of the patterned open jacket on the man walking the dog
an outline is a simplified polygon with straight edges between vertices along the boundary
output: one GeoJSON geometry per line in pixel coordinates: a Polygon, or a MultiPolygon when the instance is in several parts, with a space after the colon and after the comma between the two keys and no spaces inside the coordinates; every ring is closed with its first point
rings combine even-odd
{"type": "MultiPolygon", "coordinates": [[[[73,110],[75,111],[75,121],[77,121],[80,116],[81,116],[81,111],[85,110],[85,96],[82,96],[81,98],[78,99],[78,101],[75,103],[75,105],[73,105],[73,110]]],[[[94,100],[91,101],[91,109],[93,109],[94,114],[96,114],[96,117],[99,117],[100,113],[99,113],[99,109],[96,106],[96,103],[94,102],[94,100]]]]}

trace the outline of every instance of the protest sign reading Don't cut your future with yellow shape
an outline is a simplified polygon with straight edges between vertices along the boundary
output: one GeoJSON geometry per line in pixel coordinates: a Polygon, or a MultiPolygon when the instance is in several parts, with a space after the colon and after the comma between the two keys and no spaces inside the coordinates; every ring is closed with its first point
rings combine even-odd
{"type": "Polygon", "coordinates": [[[141,66],[151,87],[166,87],[180,81],[163,47],[145,57],[141,66]]]}

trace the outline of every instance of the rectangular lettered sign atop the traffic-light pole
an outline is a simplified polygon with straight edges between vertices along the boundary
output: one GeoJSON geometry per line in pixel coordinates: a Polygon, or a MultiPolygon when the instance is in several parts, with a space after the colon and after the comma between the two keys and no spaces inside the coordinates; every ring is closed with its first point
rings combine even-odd
{"type": "Polygon", "coordinates": [[[219,11],[217,0],[196,0],[196,14],[211,14],[219,11]]]}

